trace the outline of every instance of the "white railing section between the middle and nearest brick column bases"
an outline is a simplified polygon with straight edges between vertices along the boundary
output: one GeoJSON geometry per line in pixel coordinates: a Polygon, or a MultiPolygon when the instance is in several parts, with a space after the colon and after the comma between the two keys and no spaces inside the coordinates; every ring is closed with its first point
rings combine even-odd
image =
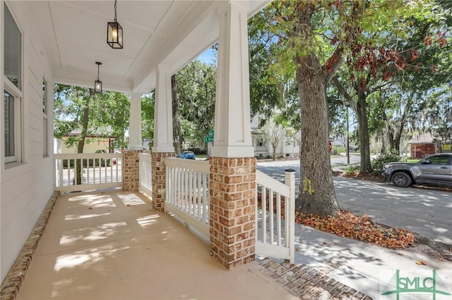
{"type": "Polygon", "coordinates": [[[174,213],[201,234],[209,238],[208,161],[165,158],[165,211],[174,213]]]}

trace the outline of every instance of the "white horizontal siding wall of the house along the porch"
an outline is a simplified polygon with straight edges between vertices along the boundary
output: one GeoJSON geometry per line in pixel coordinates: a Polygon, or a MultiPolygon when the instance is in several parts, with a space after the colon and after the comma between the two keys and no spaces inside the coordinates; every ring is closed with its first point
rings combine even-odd
{"type": "MultiPolygon", "coordinates": [[[[0,1],[0,32],[3,26],[4,1],[0,1]]],[[[42,149],[42,77],[47,80],[47,115],[49,129],[53,128],[53,80],[44,46],[33,24],[28,23],[28,8],[23,1],[7,2],[23,35],[23,157],[24,163],[14,168],[5,168],[4,149],[0,156],[0,253],[1,281],[13,264],[18,252],[30,235],[42,209],[53,192],[53,156],[44,158],[42,149]]],[[[0,56],[3,60],[3,35],[0,56]]],[[[3,61],[1,63],[0,87],[4,89],[3,61]]],[[[2,96],[3,97],[3,96],[2,96]]],[[[0,108],[1,142],[4,144],[3,98],[0,108]]],[[[53,132],[49,132],[49,149],[53,132]]]]}

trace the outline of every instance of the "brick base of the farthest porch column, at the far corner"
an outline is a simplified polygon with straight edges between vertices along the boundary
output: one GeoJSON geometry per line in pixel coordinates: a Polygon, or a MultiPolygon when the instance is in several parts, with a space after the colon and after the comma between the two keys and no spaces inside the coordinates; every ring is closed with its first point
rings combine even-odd
{"type": "Polygon", "coordinates": [[[143,150],[124,150],[122,161],[122,189],[126,192],[138,191],[140,170],[138,154],[143,150]]]}

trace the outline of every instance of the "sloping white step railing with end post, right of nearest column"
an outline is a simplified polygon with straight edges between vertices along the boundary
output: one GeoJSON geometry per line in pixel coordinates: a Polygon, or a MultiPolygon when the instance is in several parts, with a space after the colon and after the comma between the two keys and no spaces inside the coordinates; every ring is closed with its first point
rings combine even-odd
{"type": "Polygon", "coordinates": [[[256,254],[284,258],[294,263],[294,170],[286,170],[285,184],[256,170],[256,214],[256,254]],[[261,210],[258,209],[259,196],[261,210]]]}

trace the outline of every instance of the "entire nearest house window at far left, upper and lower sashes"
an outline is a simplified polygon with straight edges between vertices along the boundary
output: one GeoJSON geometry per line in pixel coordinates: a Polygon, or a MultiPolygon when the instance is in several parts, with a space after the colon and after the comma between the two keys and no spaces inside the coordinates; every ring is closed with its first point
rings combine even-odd
{"type": "Polygon", "coordinates": [[[5,163],[22,163],[22,34],[6,4],[4,4],[4,74],[2,76],[4,77],[5,163]]]}

